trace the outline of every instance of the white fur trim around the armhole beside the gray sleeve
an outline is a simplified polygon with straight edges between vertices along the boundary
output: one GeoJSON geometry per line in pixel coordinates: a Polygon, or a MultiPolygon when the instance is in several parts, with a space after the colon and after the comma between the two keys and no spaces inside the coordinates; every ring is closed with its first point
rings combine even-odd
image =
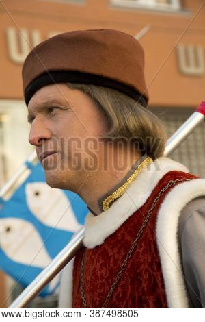
{"type": "Polygon", "coordinates": [[[205,179],[182,182],[169,191],[159,209],[156,241],[169,308],[189,308],[178,249],[178,221],[184,206],[203,195],[205,196],[205,179]]]}

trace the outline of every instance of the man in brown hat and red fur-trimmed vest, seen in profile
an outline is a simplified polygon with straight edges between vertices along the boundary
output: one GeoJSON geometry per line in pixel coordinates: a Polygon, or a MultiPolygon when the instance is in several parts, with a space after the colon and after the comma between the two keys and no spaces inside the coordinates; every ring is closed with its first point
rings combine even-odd
{"type": "Polygon", "coordinates": [[[24,62],[29,143],[46,182],[90,209],[59,307],[204,306],[205,181],[163,157],[143,64],[139,42],[113,29],[59,34],[24,62]]]}

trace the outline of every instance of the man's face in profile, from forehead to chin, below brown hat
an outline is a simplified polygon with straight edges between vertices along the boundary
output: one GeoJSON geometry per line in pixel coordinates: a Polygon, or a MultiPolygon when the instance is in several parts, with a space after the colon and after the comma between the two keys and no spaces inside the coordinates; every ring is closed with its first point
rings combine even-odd
{"type": "Polygon", "coordinates": [[[105,114],[88,95],[63,83],[40,88],[28,112],[29,143],[36,146],[47,184],[77,192],[89,162],[99,161],[103,143],[98,138],[108,129],[105,114]],[[47,152],[52,154],[42,159],[47,152]]]}

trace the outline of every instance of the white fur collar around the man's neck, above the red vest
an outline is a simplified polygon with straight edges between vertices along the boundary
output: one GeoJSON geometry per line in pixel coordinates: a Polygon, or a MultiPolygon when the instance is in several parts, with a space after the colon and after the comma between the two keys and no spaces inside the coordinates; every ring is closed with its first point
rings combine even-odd
{"type": "Polygon", "coordinates": [[[146,202],[159,180],[169,171],[189,172],[186,166],[170,158],[161,157],[133,180],[126,192],[111,207],[98,216],[87,214],[83,244],[87,248],[101,245],[105,238],[118,228],[146,202]]]}

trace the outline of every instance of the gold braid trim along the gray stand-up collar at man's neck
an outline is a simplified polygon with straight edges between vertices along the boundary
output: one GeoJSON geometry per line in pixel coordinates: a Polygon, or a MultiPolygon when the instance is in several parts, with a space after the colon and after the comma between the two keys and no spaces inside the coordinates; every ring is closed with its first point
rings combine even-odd
{"type": "Polygon", "coordinates": [[[139,166],[137,166],[137,169],[135,169],[133,174],[130,177],[128,177],[126,182],[120,188],[118,188],[113,193],[111,193],[111,195],[109,195],[107,198],[105,198],[105,200],[102,201],[103,211],[105,211],[109,208],[109,205],[111,204],[112,201],[114,201],[115,199],[117,199],[123,195],[124,191],[126,190],[126,188],[128,188],[128,186],[131,184],[133,179],[135,179],[135,177],[137,177],[137,175],[139,175],[139,173],[141,173],[141,171],[146,166],[148,166],[148,164],[150,164],[151,162],[153,162],[153,160],[150,157],[147,157],[145,160],[143,160],[143,162],[141,162],[141,164],[139,164],[139,166]]]}

